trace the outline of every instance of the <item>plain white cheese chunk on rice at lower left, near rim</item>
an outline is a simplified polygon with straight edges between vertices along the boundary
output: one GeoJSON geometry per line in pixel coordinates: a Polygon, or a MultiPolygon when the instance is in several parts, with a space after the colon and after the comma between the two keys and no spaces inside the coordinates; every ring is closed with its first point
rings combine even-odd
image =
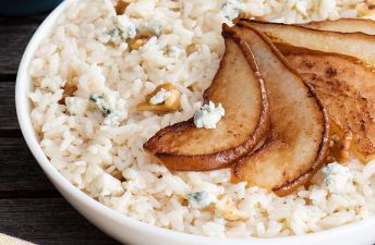
{"type": "Polygon", "coordinates": [[[87,186],[87,191],[90,192],[95,197],[105,197],[109,195],[119,196],[124,192],[121,181],[106,172],[102,172],[100,175],[98,175],[87,186]]]}

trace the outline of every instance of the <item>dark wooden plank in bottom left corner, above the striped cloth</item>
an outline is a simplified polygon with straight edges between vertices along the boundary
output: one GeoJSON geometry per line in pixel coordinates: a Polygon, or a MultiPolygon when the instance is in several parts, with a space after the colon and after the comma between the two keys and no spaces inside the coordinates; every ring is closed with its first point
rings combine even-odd
{"type": "Polygon", "coordinates": [[[119,245],[62,198],[0,199],[0,232],[39,245],[119,245]]]}

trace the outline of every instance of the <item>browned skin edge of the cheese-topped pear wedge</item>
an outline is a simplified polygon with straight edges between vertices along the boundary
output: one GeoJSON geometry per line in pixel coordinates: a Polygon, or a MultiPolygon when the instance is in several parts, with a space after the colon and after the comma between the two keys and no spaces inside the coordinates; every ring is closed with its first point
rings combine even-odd
{"type": "MultiPolygon", "coordinates": [[[[237,42],[242,50],[246,49],[243,42],[237,42]]],[[[247,56],[246,56],[247,57],[247,56]]],[[[247,58],[246,58],[247,59],[247,58]]],[[[262,112],[259,117],[259,121],[257,126],[250,136],[250,138],[242,143],[241,145],[218,151],[213,154],[206,155],[178,155],[178,154],[170,154],[170,152],[156,152],[153,146],[155,142],[158,140],[165,134],[169,132],[173,132],[177,128],[181,127],[191,127],[194,126],[193,119],[188,121],[183,121],[165,128],[161,128],[157,132],[152,138],[149,138],[144,145],[143,148],[150,154],[152,156],[156,157],[159,162],[165,164],[171,171],[209,171],[209,170],[217,170],[230,167],[235,160],[241,157],[244,157],[251,150],[255,148],[255,146],[264,139],[264,137],[268,134],[270,128],[270,118],[269,118],[269,106],[268,106],[268,98],[267,91],[264,85],[263,79],[258,76],[258,68],[255,63],[254,58],[247,59],[251,68],[253,69],[255,75],[257,76],[257,81],[261,87],[261,97],[262,97],[262,112]],[[239,152],[241,155],[239,156],[239,152]]],[[[221,63],[219,70],[221,68],[221,63]]],[[[214,79],[216,76],[214,77],[214,79]]],[[[208,103],[208,88],[205,90],[204,95],[204,103],[208,103]]],[[[195,126],[194,126],[195,127],[195,126]]],[[[198,130],[198,128],[197,128],[198,130]]]]}

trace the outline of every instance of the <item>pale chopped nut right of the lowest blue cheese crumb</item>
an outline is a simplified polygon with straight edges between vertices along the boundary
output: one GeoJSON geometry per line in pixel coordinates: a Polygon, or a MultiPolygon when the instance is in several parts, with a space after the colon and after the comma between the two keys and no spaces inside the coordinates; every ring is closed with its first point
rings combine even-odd
{"type": "Polygon", "coordinates": [[[249,213],[235,208],[233,201],[229,197],[219,200],[215,208],[218,215],[229,221],[244,221],[250,218],[249,213]]]}

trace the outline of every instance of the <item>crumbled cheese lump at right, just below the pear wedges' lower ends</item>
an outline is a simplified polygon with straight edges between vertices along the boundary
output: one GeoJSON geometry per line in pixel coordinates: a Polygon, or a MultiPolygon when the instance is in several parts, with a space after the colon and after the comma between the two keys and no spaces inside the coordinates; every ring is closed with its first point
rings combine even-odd
{"type": "Polygon", "coordinates": [[[353,188],[353,174],[348,167],[339,163],[329,163],[323,168],[324,183],[334,194],[347,194],[353,188]]]}

